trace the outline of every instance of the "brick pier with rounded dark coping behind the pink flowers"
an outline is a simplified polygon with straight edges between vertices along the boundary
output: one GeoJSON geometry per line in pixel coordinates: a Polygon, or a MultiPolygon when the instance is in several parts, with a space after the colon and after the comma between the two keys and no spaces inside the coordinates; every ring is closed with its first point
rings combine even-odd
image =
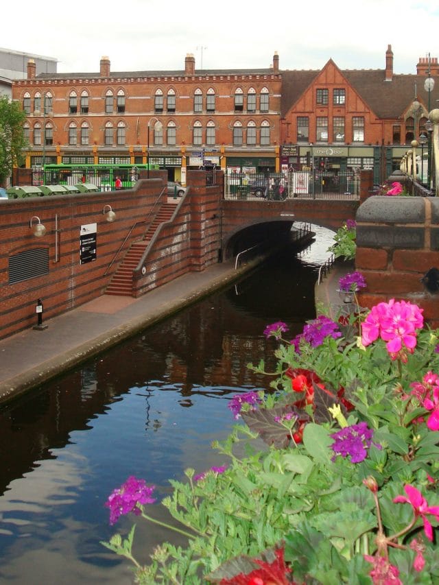
{"type": "Polygon", "coordinates": [[[366,279],[359,294],[363,307],[390,298],[424,309],[424,318],[439,326],[439,291],[430,292],[421,278],[439,268],[439,200],[371,197],[357,212],[355,267],[366,279]]]}

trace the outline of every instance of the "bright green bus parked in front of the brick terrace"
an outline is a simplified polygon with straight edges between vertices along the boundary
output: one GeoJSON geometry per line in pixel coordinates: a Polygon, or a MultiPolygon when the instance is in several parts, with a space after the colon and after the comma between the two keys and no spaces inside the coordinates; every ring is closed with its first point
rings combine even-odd
{"type": "MultiPolygon", "coordinates": [[[[158,165],[149,165],[158,169],[158,165]]],[[[141,171],[148,165],[99,164],[99,165],[44,165],[41,171],[34,171],[34,184],[69,184],[92,183],[101,191],[112,191],[117,187],[116,180],[121,180],[123,189],[130,189],[139,180],[141,171]],[[40,173],[40,176],[36,176],[40,173]]],[[[145,174],[143,174],[145,177],[145,174]]]]}

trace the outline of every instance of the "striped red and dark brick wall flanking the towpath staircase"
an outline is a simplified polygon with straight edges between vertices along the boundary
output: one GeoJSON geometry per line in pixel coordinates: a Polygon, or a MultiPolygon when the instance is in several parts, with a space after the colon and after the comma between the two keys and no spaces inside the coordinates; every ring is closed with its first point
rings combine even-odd
{"type": "MultiPolygon", "coordinates": [[[[158,230],[154,252],[145,259],[146,273],[137,275],[137,296],[217,261],[222,174],[219,178],[217,186],[206,187],[203,171],[188,174],[193,187],[177,209],[175,221],[158,230]]],[[[123,253],[153,219],[157,198],[167,200],[165,180],[166,171],[152,171],[150,180],[137,182],[132,190],[0,201],[0,338],[36,324],[38,298],[48,319],[104,294],[123,253]],[[115,222],[106,221],[105,205],[115,211],[115,222]],[[45,236],[32,234],[29,220],[33,216],[47,228],[45,236]],[[81,264],[81,226],[94,223],[97,256],[81,264]],[[49,273],[10,284],[11,256],[34,248],[48,250],[49,273]]]]}

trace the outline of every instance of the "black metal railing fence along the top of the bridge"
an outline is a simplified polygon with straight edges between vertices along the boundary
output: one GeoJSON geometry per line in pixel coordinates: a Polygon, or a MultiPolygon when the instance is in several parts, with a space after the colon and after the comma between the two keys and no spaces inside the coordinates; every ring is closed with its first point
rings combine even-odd
{"type": "Polygon", "coordinates": [[[359,198],[355,171],[288,171],[287,173],[227,173],[224,198],[283,201],[359,198]]]}

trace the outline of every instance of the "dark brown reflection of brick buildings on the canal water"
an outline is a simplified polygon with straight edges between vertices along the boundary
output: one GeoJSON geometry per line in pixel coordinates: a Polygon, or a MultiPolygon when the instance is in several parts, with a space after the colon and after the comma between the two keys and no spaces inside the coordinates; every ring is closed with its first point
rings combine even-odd
{"type": "Polygon", "coordinates": [[[55,457],[51,449],[62,449],[72,431],[90,429],[93,418],[133,390],[145,395],[145,428],[154,430],[161,425],[151,409],[155,392],[178,393],[179,405],[188,408],[198,394],[228,396],[241,388],[268,388],[270,381],[248,368],[249,362],[263,359],[267,370],[274,371],[277,343],[265,339],[263,330],[285,315],[293,322],[289,333],[294,337],[294,326],[301,329],[303,320],[313,316],[313,295],[312,278],[308,282],[293,273],[285,285],[287,294],[270,267],[266,274],[265,279],[251,277],[254,283],[241,287],[239,296],[234,287],[214,294],[48,383],[44,390],[3,407],[0,493],[41,459],[55,457]],[[269,300],[270,289],[274,300],[269,300]]]}

